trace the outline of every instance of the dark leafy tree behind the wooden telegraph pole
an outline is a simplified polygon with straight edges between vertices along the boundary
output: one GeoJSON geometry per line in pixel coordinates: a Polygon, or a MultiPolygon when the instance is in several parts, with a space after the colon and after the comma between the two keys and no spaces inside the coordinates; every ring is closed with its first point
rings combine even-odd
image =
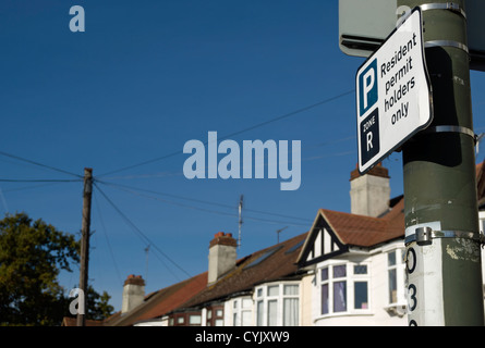
{"type": "MultiPolygon", "coordinates": [[[[78,250],[73,235],[25,213],[1,220],[0,325],[59,325],[69,313],[71,299],[58,276],[62,270],[72,272],[71,265],[80,262],[78,250]]],[[[86,304],[94,309],[94,318],[110,314],[109,295],[88,293],[86,304]]]]}

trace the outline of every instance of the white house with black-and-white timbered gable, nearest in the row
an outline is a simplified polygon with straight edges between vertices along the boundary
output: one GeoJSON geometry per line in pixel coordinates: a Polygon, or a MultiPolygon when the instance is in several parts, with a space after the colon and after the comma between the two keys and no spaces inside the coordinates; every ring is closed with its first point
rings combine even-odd
{"type": "Polygon", "coordinates": [[[407,325],[404,201],[376,166],[351,174],[351,213],[320,209],[296,260],[313,325],[407,325]]]}

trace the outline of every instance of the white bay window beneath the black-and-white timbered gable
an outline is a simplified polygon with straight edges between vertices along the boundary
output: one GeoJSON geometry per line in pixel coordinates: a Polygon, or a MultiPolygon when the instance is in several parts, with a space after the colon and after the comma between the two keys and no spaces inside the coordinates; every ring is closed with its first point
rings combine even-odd
{"type": "Polygon", "coordinates": [[[367,264],[332,264],[320,269],[320,314],[368,309],[367,264]]]}

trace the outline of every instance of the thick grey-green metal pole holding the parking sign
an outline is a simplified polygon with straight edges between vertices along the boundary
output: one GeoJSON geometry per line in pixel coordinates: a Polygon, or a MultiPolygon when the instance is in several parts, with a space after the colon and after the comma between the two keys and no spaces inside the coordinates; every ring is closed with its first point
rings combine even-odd
{"type": "Polygon", "coordinates": [[[465,0],[422,8],[434,121],[403,146],[410,325],[484,325],[465,0]]]}

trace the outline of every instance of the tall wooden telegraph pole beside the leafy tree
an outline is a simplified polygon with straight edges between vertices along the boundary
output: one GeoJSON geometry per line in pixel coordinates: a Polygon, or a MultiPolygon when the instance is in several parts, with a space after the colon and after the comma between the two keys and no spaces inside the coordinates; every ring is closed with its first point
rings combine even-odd
{"type": "MultiPolygon", "coordinates": [[[[93,169],[84,169],[84,191],[83,191],[83,222],[81,226],[81,270],[80,270],[80,288],[82,293],[80,296],[87,295],[87,275],[89,263],[89,226],[90,226],[90,201],[93,195],[93,169]]],[[[85,301],[80,301],[80,307],[85,304],[85,301]]],[[[78,308],[76,324],[77,326],[85,326],[85,308],[78,308]]]]}

